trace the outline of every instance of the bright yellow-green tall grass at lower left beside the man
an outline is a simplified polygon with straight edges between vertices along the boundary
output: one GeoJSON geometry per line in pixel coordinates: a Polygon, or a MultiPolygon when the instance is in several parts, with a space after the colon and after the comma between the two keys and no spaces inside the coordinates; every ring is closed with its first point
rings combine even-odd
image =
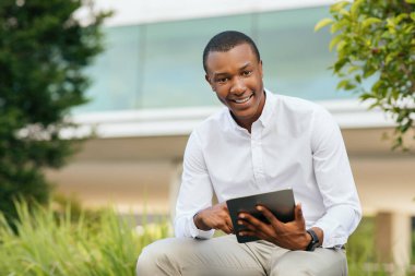
{"type": "Polygon", "coordinates": [[[71,207],[57,214],[50,206],[16,206],[17,233],[0,214],[0,275],[132,276],[142,248],[169,232],[161,223],[139,233],[134,221],[111,209],[99,212],[92,227],[83,213],[73,219],[71,207]]]}

